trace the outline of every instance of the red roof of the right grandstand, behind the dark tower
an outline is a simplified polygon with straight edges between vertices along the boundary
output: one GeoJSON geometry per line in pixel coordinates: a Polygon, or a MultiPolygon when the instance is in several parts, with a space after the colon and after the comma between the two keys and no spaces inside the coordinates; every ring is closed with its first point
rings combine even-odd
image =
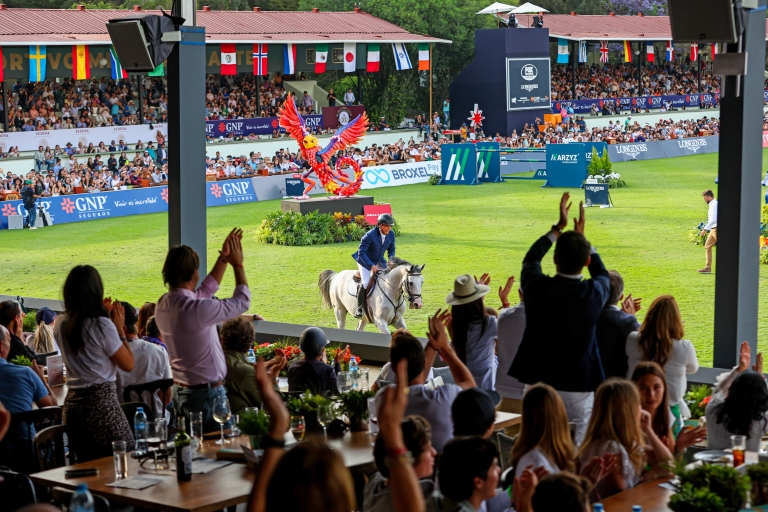
{"type": "MultiPolygon", "coordinates": [[[[520,27],[530,27],[533,14],[518,14],[520,27]]],[[[768,20],[766,20],[768,27],[768,20]]],[[[669,16],[597,16],[544,14],[552,37],[575,41],[666,41],[672,39],[669,16]]]]}

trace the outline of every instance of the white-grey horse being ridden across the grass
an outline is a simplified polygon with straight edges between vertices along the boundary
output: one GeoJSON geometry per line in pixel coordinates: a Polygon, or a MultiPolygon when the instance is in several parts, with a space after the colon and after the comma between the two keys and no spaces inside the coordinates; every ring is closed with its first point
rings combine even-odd
{"type": "MultiPolygon", "coordinates": [[[[421,309],[421,286],[424,265],[411,265],[405,260],[393,258],[387,262],[387,269],[380,271],[378,277],[368,286],[368,308],[358,321],[356,330],[362,331],[371,322],[384,334],[389,334],[387,326],[405,329],[405,302],[411,309],[421,309]],[[370,314],[371,318],[368,318],[370,314]]],[[[353,280],[355,270],[343,270],[338,274],[333,270],[320,273],[318,286],[324,308],[333,308],[336,324],[344,329],[347,313],[357,308],[357,286],[353,280]]],[[[365,309],[365,308],[364,308],[365,309]]]]}

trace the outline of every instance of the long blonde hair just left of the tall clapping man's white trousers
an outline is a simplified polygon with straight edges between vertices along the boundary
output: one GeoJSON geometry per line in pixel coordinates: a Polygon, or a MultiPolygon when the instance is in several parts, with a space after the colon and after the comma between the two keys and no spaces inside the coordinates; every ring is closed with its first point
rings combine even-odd
{"type": "Polygon", "coordinates": [[[523,397],[523,424],[512,448],[512,466],[539,447],[562,471],[575,472],[568,414],[560,395],[547,384],[535,384],[523,397]]]}

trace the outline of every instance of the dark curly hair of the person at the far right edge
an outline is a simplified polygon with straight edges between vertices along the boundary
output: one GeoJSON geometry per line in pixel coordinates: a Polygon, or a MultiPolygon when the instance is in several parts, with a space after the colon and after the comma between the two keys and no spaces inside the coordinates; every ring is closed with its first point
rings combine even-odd
{"type": "MultiPolygon", "coordinates": [[[[747,436],[752,422],[765,422],[768,411],[768,388],[763,376],[757,372],[745,371],[734,379],[728,397],[715,406],[717,422],[722,423],[731,434],[747,436]]],[[[763,426],[765,427],[765,426],[763,426]]]]}

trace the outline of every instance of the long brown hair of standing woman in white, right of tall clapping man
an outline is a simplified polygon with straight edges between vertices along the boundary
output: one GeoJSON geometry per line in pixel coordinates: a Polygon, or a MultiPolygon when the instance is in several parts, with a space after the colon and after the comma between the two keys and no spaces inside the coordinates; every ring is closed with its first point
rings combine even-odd
{"type": "Polygon", "coordinates": [[[672,345],[675,340],[683,339],[683,336],[683,319],[675,298],[671,295],[656,297],[648,308],[637,336],[643,361],[653,361],[664,368],[672,352],[672,345]]]}

